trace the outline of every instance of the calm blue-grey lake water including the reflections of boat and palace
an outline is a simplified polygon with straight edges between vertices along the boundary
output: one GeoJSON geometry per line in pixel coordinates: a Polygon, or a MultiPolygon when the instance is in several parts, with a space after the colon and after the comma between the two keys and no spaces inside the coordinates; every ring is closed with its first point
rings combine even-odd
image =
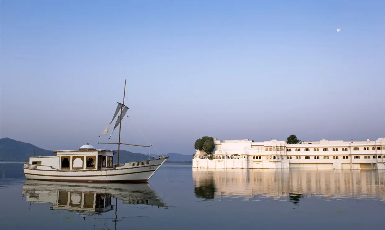
{"type": "Polygon", "coordinates": [[[163,165],[148,184],[39,182],[0,164],[0,228],[383,229],[385,172],[163,165]]]}

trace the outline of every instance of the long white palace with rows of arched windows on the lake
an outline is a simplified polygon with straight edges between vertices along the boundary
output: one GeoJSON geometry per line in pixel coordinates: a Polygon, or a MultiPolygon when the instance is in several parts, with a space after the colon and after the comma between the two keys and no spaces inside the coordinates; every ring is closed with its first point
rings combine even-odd
{"type": "Polygon", "coordinates": [[[213,159],[196,150],[193,168],[385,169],[385,137],[376,141],[320,141],[286,144],[214,139],[213,159]]]}

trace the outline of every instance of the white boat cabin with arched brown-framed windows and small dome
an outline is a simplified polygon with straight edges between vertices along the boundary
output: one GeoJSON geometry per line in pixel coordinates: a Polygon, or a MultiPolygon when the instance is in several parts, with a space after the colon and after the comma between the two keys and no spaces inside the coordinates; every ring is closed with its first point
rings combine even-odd
{"type": "Polygon", "coordinates": [[[103,170],[113,168],[112,162],[115,151],[95,149],[88,142],[78,150],[52,152],[56,156],[30,157],[29,164],[49,167],[47,170],[103,170]]]}

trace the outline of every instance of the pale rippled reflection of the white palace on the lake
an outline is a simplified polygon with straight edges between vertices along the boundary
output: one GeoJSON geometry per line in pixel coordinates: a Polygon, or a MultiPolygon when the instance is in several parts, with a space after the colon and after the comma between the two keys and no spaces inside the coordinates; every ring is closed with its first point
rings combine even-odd
{"type": "Polygon", "coordinates": [[[194,192],[215,197],[272,198],[298,205],[304,197],[377,198],[385,201],[385,170],[192,169],[194,192]]]}

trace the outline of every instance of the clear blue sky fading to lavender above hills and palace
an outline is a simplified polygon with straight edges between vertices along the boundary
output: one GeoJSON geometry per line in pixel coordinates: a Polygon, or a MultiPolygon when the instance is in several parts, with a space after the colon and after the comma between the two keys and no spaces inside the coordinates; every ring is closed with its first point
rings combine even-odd
{"type": "Polygon", "coordinates": [[[384,1],[2,0],[0,7],[0,137],[48,150],[87,141],[117,149],[98,142],[116,142],[119,127],[110,140],[111,128],[98,136],[125,80],[121,142],[148,139],[162,154],[194,154],[202,136],[385,137],[384,1]]]}

